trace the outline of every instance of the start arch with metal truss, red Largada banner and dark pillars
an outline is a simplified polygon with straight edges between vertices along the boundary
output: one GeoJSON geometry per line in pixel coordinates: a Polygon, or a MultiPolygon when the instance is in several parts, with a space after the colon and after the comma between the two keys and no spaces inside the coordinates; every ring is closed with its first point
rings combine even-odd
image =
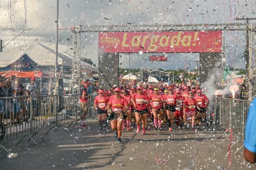
{"type": "MultiPolygon", "coordinates": [[[[223,31],[246,31],[247,82],[255,96],[255,24],[190,25],[76,25],[72,27],[72,92],[79,93],[81,33],[99,32],[99,86],[109,89],[118,83],[119,53],[200,53],[200,81],[214,76],[223,58],[223,31]]],[[[219,66],[221,67],[221,66],[219,66]]]]}

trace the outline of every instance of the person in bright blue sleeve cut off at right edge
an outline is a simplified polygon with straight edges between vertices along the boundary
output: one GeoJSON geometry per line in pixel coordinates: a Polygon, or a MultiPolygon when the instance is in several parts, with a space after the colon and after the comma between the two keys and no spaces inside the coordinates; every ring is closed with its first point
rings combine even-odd
{"type": "Polygon", "coordinates": [[[256,98],[253,99],[249,112],[248,117],[246,120],[246,127],[245,127],[245,139],[244,139],[244,158],[250,162],[256,162],[256,98]]]}

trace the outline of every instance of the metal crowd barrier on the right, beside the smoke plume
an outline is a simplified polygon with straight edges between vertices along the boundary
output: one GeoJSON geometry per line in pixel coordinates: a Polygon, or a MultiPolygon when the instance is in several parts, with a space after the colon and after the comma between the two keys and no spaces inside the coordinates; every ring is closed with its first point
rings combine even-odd
{"type": "MultiPolygon", "coordinates": [[[[244,143],[244,129],[249,106],[250,101],[248,100],[221,97],[216,97],[214,100],[214,119],[216,122],[218,122],[221,128],[226,129],[223,136],[227,135],[225,138],[227,139],[230,135],[232,135],[237,139],[234,141],[232,146],[239,143],[239,141],[244,143]]],[[[243,148],[243,146],[241,148],[243,148]]],[[[239,152],[241,148],[239,148],[235,154],[239,152]]]]}

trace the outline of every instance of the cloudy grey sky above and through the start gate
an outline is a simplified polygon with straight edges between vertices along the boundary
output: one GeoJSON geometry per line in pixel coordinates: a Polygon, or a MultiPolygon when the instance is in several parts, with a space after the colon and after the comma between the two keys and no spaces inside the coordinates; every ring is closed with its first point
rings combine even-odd
{"type": "MultiPolygon", "coordinates": [[[[3,50],[38,41],[55,49],[57,0],[0,1],[0,39],[3,50]],[[30,29],[30,30],[27,30],[30,29]],[[20,34],[21,33],[21,34],[20,34]],[[20,34],[19,36],[17,36],[20,34]],[[17,36],[17,38],[15,38],[17,36]],[[13,39],[14,38],[14,39],[13,39]],[[13,40],[12,40],[13,39],[13,40]],[[8,45],[6,45],[8,44],[8,45]],[[6,46],[5,46],[6,45],[6,46]]],[[[244,23],[236,18],[255,18],[255,0],[60,0],[59,52],[72,55],[72,25],[143,25],[143,24],[226,24],[244,23]]],[[[256,22],[256,20],[252,20],[256,22]]],[[[223,62],[244,68],[245,31],[223,32],[223,62]]],[[[121,54],[122,55],[122,54],[121,54]]],[[[131,54],[120,59],[120,67],[142,66],[157,69],[195,69],[198,53],[157,53],[168,62],[150,62],[149,53],[131,54]],[[174,64],[173,64],[174,63],[174,64]]],[[[98,66],[98,33],[81,33],[81,57],[98,66]]]]}

